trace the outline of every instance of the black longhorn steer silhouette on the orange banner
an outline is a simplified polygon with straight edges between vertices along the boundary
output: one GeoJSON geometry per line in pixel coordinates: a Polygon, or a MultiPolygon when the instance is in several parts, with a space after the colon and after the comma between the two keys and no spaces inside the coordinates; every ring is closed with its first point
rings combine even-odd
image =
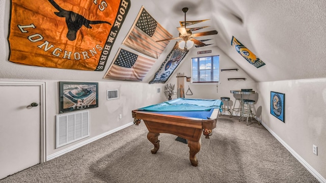
{"type": "Polygon", "coordinates": [[[62,9],[55,1],[53,0],[48,0],[51,5],[53,7],[55,7],[59,12],[55,12],[55,14],[58,17],[64,17],[66,18],[66,24],[68,27],[68,33],[67,33],[67,38],[70,41],[74,41],[76,39],[76,34],[77,31],[79,31],[79,29],[84,25],[87,28],[92,28],[91,24],[99,24],[99,23],[107,23],[110,24],[110,22],[107,21],[92,21],[92,20],[88,20],[86,19],[84,16],[79,15],[75,12],[72,11],[68,11],[68,10],[64,10],[62,9]]]}

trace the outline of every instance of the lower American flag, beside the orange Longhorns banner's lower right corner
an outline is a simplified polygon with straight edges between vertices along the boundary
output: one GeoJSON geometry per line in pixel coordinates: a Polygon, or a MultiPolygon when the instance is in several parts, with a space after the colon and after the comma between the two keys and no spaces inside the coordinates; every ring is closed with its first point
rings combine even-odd
{"type": "Polygon", "coordinates": [[[154,62],[152,59],[119,48],[103,79],[142,81],[154,62]]]}

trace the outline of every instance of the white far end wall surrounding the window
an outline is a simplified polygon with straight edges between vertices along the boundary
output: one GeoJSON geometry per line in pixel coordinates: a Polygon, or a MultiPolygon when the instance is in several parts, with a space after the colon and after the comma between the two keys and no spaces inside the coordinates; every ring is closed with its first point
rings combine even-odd
{"type": "MultiPolygon", "coordinates": [[[[231,45],[230,45],[231,46],[231,45]]],[[[238,71],[220,71],[220,83],[217,85],[214,84],[197,84],[186,82],[184,78],[184,92],[186,93],[188,88],[192,90],[193,95],[185,95],[185,98],[193,99],[220,99],[221,97],[230,97],[234,101],[233,94],[230,93],[230,90],[236,90],[241,88],[252,88],[256,89],[256,82],[248,76],[238,65],[236,65],[231,58],[229,58],[221,49],[218,47],[209,47],[209,48],[192,48],[191,51],[186,55],[184,60],[180,63],[177,69],[173,72],[173,75],[169,78],[167,83],[175,84],[175,89],[177,88],[177,73],[184,73],[185,76],[191,77],[192,75],[192,58],[193,57],[202,57],[202,56],[211,56],[211,55],[220,55],[220,69],[239,69],[238,71]],[[197,54],[197,51],[211,50],[212,53],[197,54]],[[234,81],[228,80],[228,78],[246,78],[246,80],[234,81]]],[[[243,62],[247,62],[242,58],[243,62]]],[[[254,72],[256,68],[252,66],[252,71],[254,72]]],[[[176,96],[174,96],[175,98],[176,96]]],[[[255,96],[251,96],[255,97],[255,96]]],[[[252,99],[252,98],[251,98],[252,99]]],[[[229,105],[232,105],[233,102],[230,101],[229,105]]]]}

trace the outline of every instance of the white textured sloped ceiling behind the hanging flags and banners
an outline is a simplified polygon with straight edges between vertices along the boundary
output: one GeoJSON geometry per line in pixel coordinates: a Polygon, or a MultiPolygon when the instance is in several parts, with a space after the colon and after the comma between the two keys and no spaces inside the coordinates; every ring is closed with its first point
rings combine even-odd
{"type": "MultiPolygon", "coordinates": [[[[2,62],[0,78],[51,79],[103,81],[123,39],[127,35],[141,6],[172,35],[178,36],[177,26],[184,20],[182,8],[189,8],[187,20],[210,19],[198,26],[216,29],[218,35],[202,37],[210,39],[255,81],[278,81],[326,77],[326,2],[325,0],[136,0],[131,7],[112,48],[104,71],[77,71],[53,68],[20,66],[8,61],[8,36],[10,1],[0,1],[2,25],[0,38],[2,62]],[[266,65],[255,68],[231,46],[234,36],[249,48],[266,65]],[[24,73],[19,74],[19,73],[24,73]]],[[[197,26],[197,24],[196,24],[197,26]]],[[[172,40],[153,68],[144,78],[149,82],[175,44],[172,40]]],[[[196,51],[192,48],[191,51],[196,51]]],[[[187,59],[187,57],[186,57],[187,59]]],[[[222,59],[222,58],[221,58],[222,59]]],[[[223,62],[223,60],[221,60],[223,62]]],[[[182,63],[179,67],[182,67],[182,63]]],[[[177,68],[178,69],[178,68],[177,68]]],[[[120,81],[119,81],[120,82],[120,81]]]]}

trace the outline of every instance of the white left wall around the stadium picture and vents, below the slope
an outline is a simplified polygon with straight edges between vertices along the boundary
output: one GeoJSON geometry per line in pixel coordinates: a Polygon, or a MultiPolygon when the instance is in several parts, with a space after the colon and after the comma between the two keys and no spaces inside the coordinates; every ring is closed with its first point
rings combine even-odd
{"type": "MultiPolygon", "coordinates": [[[[69,80],[70,81],[70,80],[69,80]]],[[[90,110],[90,137],[55,149],[55,115],[59,114],[58,81],[46,81],[46,146],[47,156],[74,144],[132,123],[131,111],[165,100],[164,94],[156,93],[162,84],[139,82],[98,82],[99,106],[90,110]],[[106,100],[107,89],[119,89],[119,99],[106,100]],[[119,114],[122,118],[119,119],[119,114]]]]}

